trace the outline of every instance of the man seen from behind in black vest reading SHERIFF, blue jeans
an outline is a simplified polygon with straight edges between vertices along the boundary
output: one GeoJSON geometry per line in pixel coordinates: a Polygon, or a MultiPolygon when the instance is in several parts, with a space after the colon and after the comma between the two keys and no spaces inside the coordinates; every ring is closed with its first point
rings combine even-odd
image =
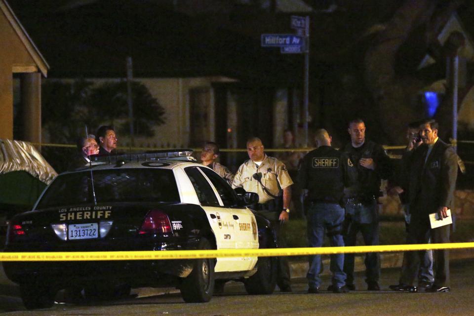
{"type": "MultiPolygon", "coordinates": [[[[311,247],[321,247],[324,232],[331,246],[344,246],[341,235],[344,222],[344,179],[346,175],[343,154],[331,147],[331,136],[325,129],[316,130],[316,149],[304,158],[298,171],[298,182],[308,190],[308,240],[311,247]]],[[[319,293],[322,271],[321,256],[310,256],[307,274],[308,293],[319,293]]],[[[330,271],[332,284],[328,290],[346,293],[346,274],[344,273],[344,254],[331,255],[330,271]]]]}

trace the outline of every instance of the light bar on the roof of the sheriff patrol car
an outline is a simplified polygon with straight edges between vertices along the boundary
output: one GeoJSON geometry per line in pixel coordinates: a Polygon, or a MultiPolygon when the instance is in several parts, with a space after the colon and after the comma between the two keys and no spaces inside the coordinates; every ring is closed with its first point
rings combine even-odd
{"type": "Polygon", "coordinates": [[[142,161],[142,160],[186,160],[194,161],[191,157],[192,149],[165,149],[146,153],[136,154],[118,154],[118,155],[102,155],[91,157],[92,161],[97,162],[117,162],[117,161],[142,161]]]}

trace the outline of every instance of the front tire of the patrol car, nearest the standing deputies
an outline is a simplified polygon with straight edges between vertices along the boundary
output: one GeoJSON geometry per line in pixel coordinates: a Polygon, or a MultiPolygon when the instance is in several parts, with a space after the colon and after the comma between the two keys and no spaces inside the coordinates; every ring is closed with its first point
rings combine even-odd
{"type": "Polygon", "coordinates": [[[248,294],[272,294],[276,286],[276,258],[260,257],[257,261],[257,272],[244,280],[248,294]]]}

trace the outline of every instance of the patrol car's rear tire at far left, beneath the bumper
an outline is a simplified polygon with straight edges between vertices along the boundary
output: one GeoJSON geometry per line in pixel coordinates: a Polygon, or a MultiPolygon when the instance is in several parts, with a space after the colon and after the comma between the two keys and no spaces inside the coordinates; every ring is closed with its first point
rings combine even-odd
{"type": "Polygon", "coordinates": [[[27,310],[50,308],[56,291],[48,284],[20,284],[20,295],[27,310]]]}

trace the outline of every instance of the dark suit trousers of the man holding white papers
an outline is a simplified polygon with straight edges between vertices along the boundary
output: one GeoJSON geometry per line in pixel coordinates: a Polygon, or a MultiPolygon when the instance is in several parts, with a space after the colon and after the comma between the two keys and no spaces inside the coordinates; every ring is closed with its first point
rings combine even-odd
{"type": "MultiPolygon", "coordinates": [[[[428,214],[423,216],[411,217],[410,225],[408,225],[408,242],[409,243],[448,243],[451,225],[441,226],[431,229],[428,221],[428,214]]],[[[400,283],[413,285],[418,276],[420,262],[425,257],[426,250],[407,252],[407,267],[403,270],[400,277],[400,283]]],[[[435,287],[449,286],[449,250],[439,249],[433,251],[435,287]]]]}

